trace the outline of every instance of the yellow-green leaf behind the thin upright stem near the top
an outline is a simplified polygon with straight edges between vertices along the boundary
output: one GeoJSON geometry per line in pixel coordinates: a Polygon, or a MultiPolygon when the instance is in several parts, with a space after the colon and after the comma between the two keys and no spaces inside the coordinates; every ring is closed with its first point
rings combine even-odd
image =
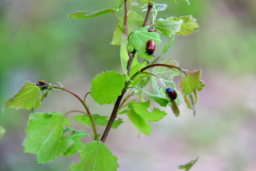
{"type": "MultiPolygon", "coordinates": [[[[124,23],[124,16],[121,17],[121,20],[124,23]]],[[[130,12],[127,19],[128,34],[140,29],[143,26],[143,23],[144,18],[141,15],[134,11],[130,12]]],[[[124,25],[119,21],[115,28],[111,44],[121,45],[122,38],[124,37],[123,35],[125,35],[124,25]]]]}

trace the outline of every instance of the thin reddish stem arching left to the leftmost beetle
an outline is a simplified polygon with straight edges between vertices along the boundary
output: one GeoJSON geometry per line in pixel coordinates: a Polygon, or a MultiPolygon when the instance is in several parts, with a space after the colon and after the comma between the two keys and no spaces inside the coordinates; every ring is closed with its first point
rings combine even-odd
{"type": "Polygon", "coordinates": [[[60,89],[60,90],[66,91],[66,92],[72,94],[73,96],[75,96],[82,103],[82,105],[84,106],[84,109],[86,109],[86,112],[89,114],[89,117],[90,117],[90,120],[91,120],[91,123],[92,123],[94,136],[95,136],[95,138],[97,137],[98,134],[97,134],[97,131],[96,131],[96,126],[94,124],[92,114],[91,114],[88,106],[86,105],[86,103],[84,103],[84,101],[77,94],[70,91],[69,89],[66,89],[66,88],[63,88],[63,87],[60,87],[60,86],[56,86],[56,85],[44,85],[44,86],[39,86],[39,87],[51,87],[51,88],[55,88],[55,89],[60,89]]]}

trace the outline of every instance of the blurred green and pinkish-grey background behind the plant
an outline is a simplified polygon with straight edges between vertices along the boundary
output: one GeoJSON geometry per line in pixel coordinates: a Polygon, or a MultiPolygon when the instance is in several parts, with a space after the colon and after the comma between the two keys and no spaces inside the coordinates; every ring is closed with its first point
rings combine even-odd
{"type": "MultiPolygon", "coordinates": [[[[192,14],[200,31],[178,36],[167,57],[188,70],[203,69],[205,89],[199,93],[197,115],[180,106],[176,118],[168,115],[153,123],[153,133],[139,135],[124,123],[111,130],[106,144],[118,157],[119,170],[179,170],[180,164],[196,159],[191,170],[256,170],[256,1],[198,0],[157,1],[168,8],[159,17],[192,14]],[[140,138],[138,138],[140,136],[140,138]]],[[[119,47],[110,45],[118,20],[109,14],[93,19],[71,19],[75,10],[94,12],[115,7],[118,0],[1,0],[0,1],[0,104],[22,87],[23,82],[61,82],[83,96],[90,80],[106,70],[122,72],[119,47]]],[[[140,8],[138,13],[145,16],[140,8]]],[[[118,12],[122,15],[123,11],[118,12]]],[[[161,51],[167,39],[159,45],[161,51]]],[[[176,79],[177,86],[180,79],[176,79]]],[[[88,98],[92,113],[110,115],[111,105],[98,105],[88,98]]],[[[80,103],[61,91],[51,92],[39,112],[81,110],[80,103]]],[[[68,170],[80,161],[76,153],[36,165],[36,155],[24,154],[28,111],[6,109],[0,125],[0,170],[68,170]]],[[[75,122],[73,122],[75,123],[75,122]]],[[[75,129],[84,129],[75,123],[75,129]]],[[[98,126],[102,133],[104,127],[98,126]]],[[[86,128],[87,131],[90,132],[86,128]]],[[[84,139],[89,141],[89,139],[84,139]]]]}

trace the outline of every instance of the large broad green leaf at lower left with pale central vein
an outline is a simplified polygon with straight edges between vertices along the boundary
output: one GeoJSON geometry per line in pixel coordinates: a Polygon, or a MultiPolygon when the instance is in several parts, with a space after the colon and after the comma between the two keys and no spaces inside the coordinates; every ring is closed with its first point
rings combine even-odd
{"type": "Polygon", "coordinates": [[[72,124],[62,113],[36,113],[26,129],[24,153],[37,154],[37,163],[48,163],[62,156],[74,143],[72,139],[61,139],[65,125],[72,124]]]}

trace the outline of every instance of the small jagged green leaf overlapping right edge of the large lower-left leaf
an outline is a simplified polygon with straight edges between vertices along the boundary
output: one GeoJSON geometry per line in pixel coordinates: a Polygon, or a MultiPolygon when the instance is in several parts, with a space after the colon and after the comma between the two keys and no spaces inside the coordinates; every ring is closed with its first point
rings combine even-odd
{"type": "Polygon", "coordinates": [[[80,141],[81,138],[88,136],[87,132],[82,131],[82,130],[78,130],[75,132],[72,132],[71,135],[69,137],[62,137],[61,140],[68,140],[68,139],[72,139],[74,141],[74,144],[72,147],[70,147],[68,149],[68,151],[66,153],[63,154],[63,156],[71,156],[74,153],[76,153],[83,145],[83,143],[80,141]]]}

